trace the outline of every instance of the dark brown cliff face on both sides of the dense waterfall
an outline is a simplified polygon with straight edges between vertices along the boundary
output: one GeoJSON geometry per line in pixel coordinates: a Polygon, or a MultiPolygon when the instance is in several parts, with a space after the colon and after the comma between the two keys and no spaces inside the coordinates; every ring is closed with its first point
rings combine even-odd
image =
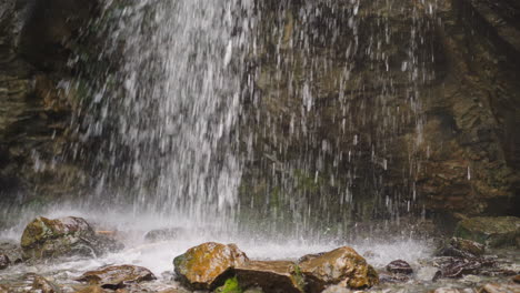
{"type": "MultiPolygon", "coordinates": [[[[350,1],[321,2],[259,2],[242,205],[328,221],[518,211],[517,1],[361,1],[356,18],[350,1]]],[[[94,1],[0,1],[2,201],[88,185],[63,155],[79,111],[66,81],[96,16],[94,1]]]]}

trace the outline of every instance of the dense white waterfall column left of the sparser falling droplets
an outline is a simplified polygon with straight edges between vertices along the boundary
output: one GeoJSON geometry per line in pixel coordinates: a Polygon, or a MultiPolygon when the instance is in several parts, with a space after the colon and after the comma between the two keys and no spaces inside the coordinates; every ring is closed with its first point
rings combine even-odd
{"type": "Polygon", "coordinates": [[[92,98],[78,118],[81,141],[93,144],[74,150],[79,160],[96,151],[90,203],[129,203],[194,223],[230,216],[241,178],[233,132],[250,6],[107,3],[96,24],[104,47],[83,72],[92,98]]]}

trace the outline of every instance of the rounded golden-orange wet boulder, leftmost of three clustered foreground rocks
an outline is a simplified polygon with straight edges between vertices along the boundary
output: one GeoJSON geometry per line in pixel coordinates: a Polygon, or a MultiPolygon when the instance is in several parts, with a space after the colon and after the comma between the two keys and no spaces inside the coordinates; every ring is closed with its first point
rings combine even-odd
{"type": "Polygon", "coordinates": [[[230,269],[246,264],[246,253],[234,244],[203,243],[173,260],[178,280],[194,290],[212,290],[223,284],[230,269]]]}

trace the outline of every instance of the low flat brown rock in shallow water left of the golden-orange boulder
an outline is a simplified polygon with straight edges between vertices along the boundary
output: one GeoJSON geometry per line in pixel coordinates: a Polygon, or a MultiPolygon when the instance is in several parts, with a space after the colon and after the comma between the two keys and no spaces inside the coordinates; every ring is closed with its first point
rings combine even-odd
{"type": "Polygon", "coordinates": [[[121,289],[126,284],[156,280],[148,269],[136,265],[117,265],[90,271],[82,274],[77,281],[97,284],[104,289],[121,289]]]}

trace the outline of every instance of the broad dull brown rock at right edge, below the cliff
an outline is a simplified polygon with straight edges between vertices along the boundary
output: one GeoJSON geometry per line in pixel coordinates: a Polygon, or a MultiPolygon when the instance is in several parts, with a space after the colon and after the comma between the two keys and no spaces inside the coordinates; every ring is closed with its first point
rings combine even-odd
{"type": "Polygon", "coordinates": [[[466,219],[457,224],[454,235],[490,247],[514,246],[520,236],[520,218],[477,216],[466,219]]]}

